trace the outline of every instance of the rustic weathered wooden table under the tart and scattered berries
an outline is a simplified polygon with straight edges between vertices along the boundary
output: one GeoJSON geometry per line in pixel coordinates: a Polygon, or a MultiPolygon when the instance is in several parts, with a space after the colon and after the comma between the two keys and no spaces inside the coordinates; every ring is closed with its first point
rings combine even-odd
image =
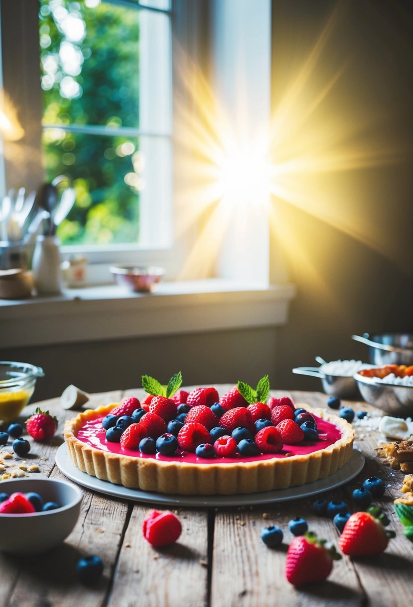
{"type": "MultiPolygon", "coordinates": [[[[220,386],[222,394],[228,387],[220,386]]],[[[286,395],[286,392],[272,392],[286,395]]],[[[118,402],[124,396],[141,396],[140,390],[119,390],[92,395],[91,407],[118,402]]],[[[326,407],[327,396],[314,392],[292,392],[292,399],[326,407]]],[[[364,402],[351,402],[355,410],[368,410],[374,421],[377,410],[364,402]]],[[[55,464],[62,443],[61,431],[73,412],[63,410],[59,399],[38,404],[59,419],[59,433],[48,445],[33,443],[28,464],[37,465],[40,475],[65,478],[55,464]]],[[[33,412],[29,405],[22,417],[33,412]]],[[[324,497],[345,500],[352,507],[351,492],[368,476],[386,480],[388,490],[379,503],[397,532],[382,555],[352,560],[343,557],[334,565],[326,582],[302,589],[285,578],[285,554],[292,539],[288,521],[306,518],[309,529],[337,545],[338,534],[331,520],[315,517],[311,504],[302,498],[264,506],[180,508],[183,532],[178,543],[153,549],[142,537],[142,521],[151,504],[110,497],[84,489],[81,516],[64,544],[40,557],[11,557],[0,554],[1,607],[274,607],[285,606],[397,606],[413,605],[413,544],[403,535],[394,514],[393,500],[400,497],[403,473],[391,470],[375,456],[378,432],[355,426],[355,444],[366,456],[362,472],[345,486],[324,497]],[[278,549],[269,549],[260,539],[268,524],[284,530],[278,549]],[[97,554],[104,561],[100,582],[88,588],[76,578],[76,561],[97,554]]],[[[12,452],[10,447],[3,449],[12,452]]],[[[9,472],[21,461],[4,459],[9,472]]],[[[33,475],[36,472],[31,472],[33,475]]],[[[1,487],[1,483],[0,483],[1,487]]],[[[159,506],[159,509],[167,506],[159,506]]],[[[174,507],[171,507],[174,509],[174,507]]]]}

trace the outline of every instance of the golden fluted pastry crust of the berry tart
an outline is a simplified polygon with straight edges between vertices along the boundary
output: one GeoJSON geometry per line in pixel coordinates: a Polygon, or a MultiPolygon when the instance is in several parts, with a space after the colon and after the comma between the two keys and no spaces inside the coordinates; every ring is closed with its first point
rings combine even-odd
{"type": "Polygon", "coordinates": [[[337,472],[352,453],[354,430],[345,419],[302,404],[297,407],[337,426],[342,432],[341,438],[325,449],[306,455],[233,464],[195,464],[110,453],[82,443],[76,437],[86,421],[104,417],[117,404],[87,409],[68,420],[64,438],[70,458],[79,470],[130,489],[180,495],[233,495],[287,489],[337,472]]]}

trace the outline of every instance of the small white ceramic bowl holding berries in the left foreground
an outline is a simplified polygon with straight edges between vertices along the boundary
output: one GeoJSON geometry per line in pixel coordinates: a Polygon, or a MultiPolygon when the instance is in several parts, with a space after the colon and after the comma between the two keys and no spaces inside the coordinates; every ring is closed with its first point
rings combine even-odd
{"type": "Polygon", "coordinates": [[[56,510],[33,514],[0,513],[0,550],[16,555],[42,554],[55,548],[73,530],[81,511],[83,492],[71,483],[53,478],[16,478],[0,483],[0,492],[39,493],[44,502],[60,504],[56,510]]]}

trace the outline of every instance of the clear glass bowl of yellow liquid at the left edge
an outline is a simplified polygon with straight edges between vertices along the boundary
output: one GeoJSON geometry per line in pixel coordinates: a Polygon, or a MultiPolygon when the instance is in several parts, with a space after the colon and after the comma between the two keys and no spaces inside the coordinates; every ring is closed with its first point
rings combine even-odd
{"type": "Polygon", "coordinates": [[[40,367],[27,362],[0,361],[0,420],[13,421],[30,401],[40,367]]]}

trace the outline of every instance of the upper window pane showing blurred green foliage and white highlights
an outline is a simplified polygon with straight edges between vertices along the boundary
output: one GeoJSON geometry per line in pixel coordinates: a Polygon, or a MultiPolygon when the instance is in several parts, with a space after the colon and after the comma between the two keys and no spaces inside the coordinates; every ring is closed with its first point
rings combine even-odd
{"type": "Polygon", "coordinates": [[[139,13],[41,0],[44,124],[139,126],[139,13]]]}

